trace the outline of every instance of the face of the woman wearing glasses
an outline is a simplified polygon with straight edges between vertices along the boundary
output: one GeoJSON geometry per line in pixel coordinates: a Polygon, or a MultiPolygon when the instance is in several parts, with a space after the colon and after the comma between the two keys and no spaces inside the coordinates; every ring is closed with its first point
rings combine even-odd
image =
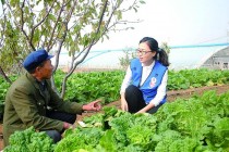
{"type": "Polygon", "coordinates": [[[154,61],[154,56],[156,55],[156,51],[149,49],[147,42],[142,42],[138,45],[137,56],[140,62],[144,65],[150,65],[154,61]]]}

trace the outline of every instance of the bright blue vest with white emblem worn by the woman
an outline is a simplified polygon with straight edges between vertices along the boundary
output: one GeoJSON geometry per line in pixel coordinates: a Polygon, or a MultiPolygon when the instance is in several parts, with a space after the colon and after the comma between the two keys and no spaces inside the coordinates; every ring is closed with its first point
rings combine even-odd
{"type": "MultiPolygon", "coordinates": [[[[158,61],[155,61],[155,65],[149,76],[146,78],[143,85],[140,86],[142,79],[142,69],[143,69],[142,63],[140,62],[140,60],[133,59],[131,61],[132,85],[140,88],[140,90],[143,92],[143,98],[146,104],[148,104],[152,101],[152,99],[154,99],[155,96],[157,94],[157,88],[161,84],[167,67],[164,66],[158,61]]],[[[166,102],[166,96],[160,102],[160,104],[165,102],[166,102]]]]}

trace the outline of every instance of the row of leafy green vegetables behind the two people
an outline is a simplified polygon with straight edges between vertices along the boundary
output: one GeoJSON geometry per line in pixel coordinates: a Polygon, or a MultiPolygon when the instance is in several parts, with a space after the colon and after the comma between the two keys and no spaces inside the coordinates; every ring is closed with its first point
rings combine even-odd
{"type": "MultiPolygon", "coordinates": [[[[169,71],[168,90],[228,84],[228,75],[229,71],[169,71]]],[[[61,71],[55,74],[55,83],[59,91],[63,77],[64,73],[61,71]]],[[[85,103],[103,97],[105,103],[117,101],[120,98],[119,91],[123,77],[123,71],[74,73],[67,83],[64,99],[85,103]]],[[[16,76],[10,78],[13,81],[16,76]]],[[[0,78],[0,103],[4,102],[9,86],[10,84],[0,78]]]]}

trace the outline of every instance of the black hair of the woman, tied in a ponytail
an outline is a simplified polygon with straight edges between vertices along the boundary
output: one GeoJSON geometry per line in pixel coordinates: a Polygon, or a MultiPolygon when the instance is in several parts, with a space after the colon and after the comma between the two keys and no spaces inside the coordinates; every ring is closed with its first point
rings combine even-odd
{"type": "Polygon", "coordinates": [[[169,66],[168,54],[164,49],[158,47],[156,39],[152,37],[144,37],[142,40],[140,40],[140,43],[142,42],[146,42],[152,51],[156,51],[156,55],[154,56],[155,60],[158,60],[165,66],[169,66]]]}

